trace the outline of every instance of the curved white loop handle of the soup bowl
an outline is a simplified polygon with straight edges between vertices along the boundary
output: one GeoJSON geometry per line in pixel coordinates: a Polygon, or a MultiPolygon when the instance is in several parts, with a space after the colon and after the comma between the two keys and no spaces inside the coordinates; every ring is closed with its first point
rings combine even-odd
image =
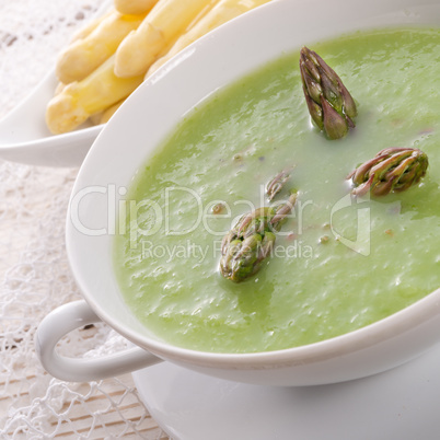
{"type": "Polygon", "coordinates": [[[100,322],[85,301],[74,301],[50,312],[38,325],[35,347],[38,358],[54,377],[69,382],[89,382],[124,374],[162,361],[139,347],[99,359],[76,359],[58,355],[56,345],[69,332],[100,322]]]}

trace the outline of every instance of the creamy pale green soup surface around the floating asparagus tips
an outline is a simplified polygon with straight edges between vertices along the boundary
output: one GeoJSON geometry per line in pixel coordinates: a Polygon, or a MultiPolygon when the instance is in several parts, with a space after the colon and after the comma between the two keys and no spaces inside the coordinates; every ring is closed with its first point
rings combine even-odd
{"type": "Polygon", "coordinates": [[[311,126],[298,50],[200,104],[129,188],[143,207],[137,220],[127,208],[116,275],[158,337],[208,351],[282,349],[357,329],[440,287],[439,30],[359,32],[310,47],[358,103],[345,139],[311,126]],[[405,193],[351,200],[347,174],[387,147],[424,150],[427,176],[405,193]],[[269,204],[264,185],[288,166],[299,199],[276,254],[242,283],[222,278],[223,234],[250,202],[269,204]],[[231,211],[212,215],[221,200],[231,211]]]}

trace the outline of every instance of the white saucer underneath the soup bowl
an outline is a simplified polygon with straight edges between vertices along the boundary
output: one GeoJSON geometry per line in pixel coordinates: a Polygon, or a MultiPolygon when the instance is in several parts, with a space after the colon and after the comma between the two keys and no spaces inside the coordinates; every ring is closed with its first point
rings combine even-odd
{"type": "Polygon", "coordinates": [[[334,385],[247,385],[170,362],[132,377],[174,440],[437,440],[439,371],[438,345],[394,370],[334,385]]]}

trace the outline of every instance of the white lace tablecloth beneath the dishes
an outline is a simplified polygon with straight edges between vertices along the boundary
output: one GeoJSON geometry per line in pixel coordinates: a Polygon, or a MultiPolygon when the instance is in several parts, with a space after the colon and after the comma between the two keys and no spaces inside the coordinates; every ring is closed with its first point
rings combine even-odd
{"type": "MultiPolygon", "coordinates": [[[[59,49],[104,0],[0,0],[0,118],[53,68],[59,49]]],[[[23,120],[23,125],[26,124],[23,120]]],[[[35,329],[80,298],[68,267],[65,217],[78,170],[0,161],[0,433],[4,439],[166,436],[131,375],[67,383],[40,367],[35,329]]],[[[69,335],[61,350],[94,356],[124,339],[105,326],[69,335]]]]}

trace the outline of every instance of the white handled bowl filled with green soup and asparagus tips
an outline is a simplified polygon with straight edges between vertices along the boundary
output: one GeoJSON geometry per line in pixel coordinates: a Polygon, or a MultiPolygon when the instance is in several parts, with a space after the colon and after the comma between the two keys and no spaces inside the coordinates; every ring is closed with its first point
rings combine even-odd
{"type": "Polygon", "coordinates": [[[311,385],[436,344],[439,25],[439,1],[274,1],[158,70],[78,175],[66,241],[84,301],[42,322],[44,367],[311,385]],[[57,354],[96,321],[132,347],[57,354]]]}

